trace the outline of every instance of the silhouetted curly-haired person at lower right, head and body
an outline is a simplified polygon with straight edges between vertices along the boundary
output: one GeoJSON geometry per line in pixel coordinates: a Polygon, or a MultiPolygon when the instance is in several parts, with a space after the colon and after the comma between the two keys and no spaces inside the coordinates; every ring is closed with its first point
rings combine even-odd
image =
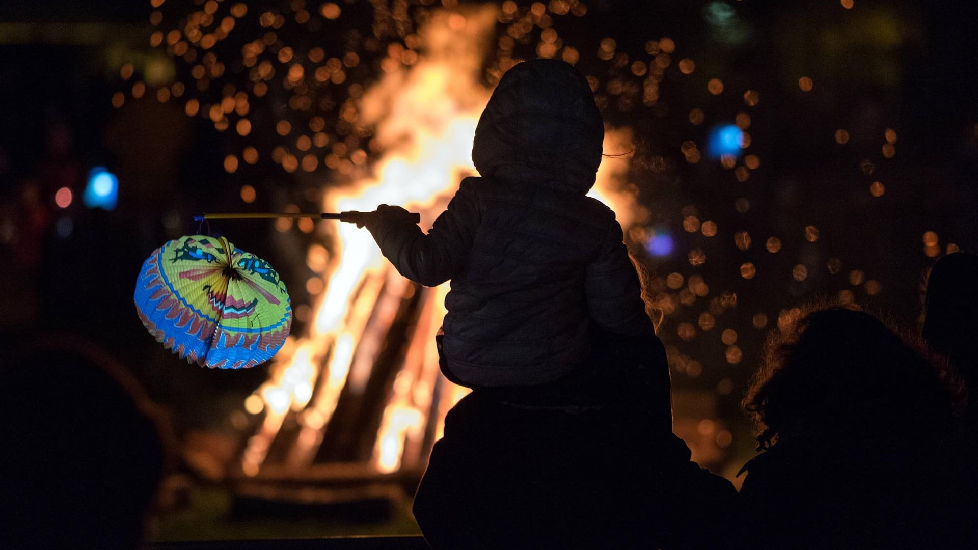
{"type": "Polygon", "coordinates": [[[744,466],[745,544],[933,547],[948,509],[944,376],[862,311],[815,310],[772,333],[744,398],[765,451],[744,466]]]}

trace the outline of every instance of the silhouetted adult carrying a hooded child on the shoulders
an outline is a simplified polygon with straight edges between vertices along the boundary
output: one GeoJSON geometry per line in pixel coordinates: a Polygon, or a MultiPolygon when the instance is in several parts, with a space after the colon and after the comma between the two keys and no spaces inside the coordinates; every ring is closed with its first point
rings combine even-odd
{"type": "Polygon", "coordinates": [[[733,497],[672,435],[665,353],[621,226],[586,196],[603,135],[579,72],[518,64],[475,131],[481,177],[431,231],[398,206],[366,220],[402,275],[451,280],[441,367],[473,391],[448,413],[415,500],[435,547],[691,543],[702,525],[683,521],[733,497]]]}

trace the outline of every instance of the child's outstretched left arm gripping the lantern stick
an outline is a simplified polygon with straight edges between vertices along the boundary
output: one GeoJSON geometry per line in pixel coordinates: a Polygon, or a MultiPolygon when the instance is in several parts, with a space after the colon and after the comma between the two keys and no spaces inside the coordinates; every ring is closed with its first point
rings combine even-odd
{"type": "Polygon", "coordinates": [[[400,206],[378,206],[365,225],[380,252],[401,275],[425,287],[435,287],[454,277],[465,265],[478,220],[475,198],[463,184],[427,235],[400,206]]]}

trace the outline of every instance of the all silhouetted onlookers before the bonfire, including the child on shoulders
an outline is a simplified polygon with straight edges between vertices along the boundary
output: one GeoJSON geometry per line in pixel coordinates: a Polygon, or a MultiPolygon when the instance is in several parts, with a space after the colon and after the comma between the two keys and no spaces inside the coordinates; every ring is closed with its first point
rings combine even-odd
{"type": "MultiPolygon", "coordinates": [[[[743,401],[763,452],[738,493],[673,434],[639,273],[614,212],[586,196],[602,138],[579,72],[520,63],[479,119],[480,177],[431,231],[398,206],[363,223],[402,275],[451,280],[440,366],[472,391],[418,488],[425,540],[978,547],[978,256],[934,265],[920,337],[827,303],[773,330],[743,401]]],[[[165,460],[125,370],[54,335],[4,357],[0,381],[0,548],[135,547],[165,460]]]]}

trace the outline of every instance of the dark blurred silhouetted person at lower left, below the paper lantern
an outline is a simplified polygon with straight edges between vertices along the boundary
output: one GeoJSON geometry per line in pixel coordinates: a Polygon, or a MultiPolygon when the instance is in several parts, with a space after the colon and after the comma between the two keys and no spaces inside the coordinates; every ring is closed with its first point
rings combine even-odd
{"type": "Polygon", "coordinates": [[[138,547],[163,447],[135,380],[66,335],[4,359],[0,547],[138,547]]]}

